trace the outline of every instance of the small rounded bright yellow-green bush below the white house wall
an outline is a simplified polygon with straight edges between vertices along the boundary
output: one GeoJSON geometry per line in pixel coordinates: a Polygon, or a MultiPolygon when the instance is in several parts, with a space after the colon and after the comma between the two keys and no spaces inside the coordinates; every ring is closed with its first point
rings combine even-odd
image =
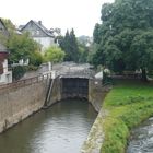
{"type": "Polygon", "coordinates": [[[57,46],[49,47],[45,50],[45,61],[51,61],[52,63],[63,61],[64,51],[57,46]]]}

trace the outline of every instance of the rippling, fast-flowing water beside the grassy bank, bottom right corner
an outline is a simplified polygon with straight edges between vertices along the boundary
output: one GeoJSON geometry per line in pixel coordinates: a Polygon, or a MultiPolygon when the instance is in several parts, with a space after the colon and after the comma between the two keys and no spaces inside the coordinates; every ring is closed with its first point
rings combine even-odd
{"type": "Polygon", "coordinates": [[[127,153],[153,153],[153,118],[132,130],[127,153]]]}

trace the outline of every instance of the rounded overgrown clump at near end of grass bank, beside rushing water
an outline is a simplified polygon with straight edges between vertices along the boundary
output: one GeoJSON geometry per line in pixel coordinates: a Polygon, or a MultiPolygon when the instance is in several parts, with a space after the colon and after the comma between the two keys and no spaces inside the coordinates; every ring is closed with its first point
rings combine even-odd
{"type": "Polygon", "coordinates": [[[129,136],[126,125],[120,119],[109,118],[109,122],[107,122],[107,127],[105,128],[108,128],[109,131],[105,136],[104,145],[101,149],[101,152],[125,153],[125,146],[127,145],[126,139],[127,136],[129,136]]]}

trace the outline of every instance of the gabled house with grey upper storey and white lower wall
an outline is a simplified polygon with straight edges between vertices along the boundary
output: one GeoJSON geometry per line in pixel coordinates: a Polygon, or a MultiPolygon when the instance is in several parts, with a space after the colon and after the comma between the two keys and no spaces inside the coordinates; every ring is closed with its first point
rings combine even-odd
{"type": "Polygon", "coordinates": [[[21,26],[20,30],[22,33],[28,32],[34,40],[40,44],[42,52],[44,54],[45,48],[56,45],[55,35],[51,31],[47,30],[42,21],[31,20],[26,25],[21,26]]]}

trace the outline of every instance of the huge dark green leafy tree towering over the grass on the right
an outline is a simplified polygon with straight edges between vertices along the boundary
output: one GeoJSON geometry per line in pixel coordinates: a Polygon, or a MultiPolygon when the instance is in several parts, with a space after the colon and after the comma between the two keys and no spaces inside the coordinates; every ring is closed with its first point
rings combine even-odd
{"type": "Polygon", "coordinates": [[[142,79],[146,80],[146,70],[153,66],[152,13],[152,0],[116,0],[104,4],[102,24],[94,31],[94,42],[99,45],[93,56],[95,63],[120,72],[141,69],[142,79]]]}

